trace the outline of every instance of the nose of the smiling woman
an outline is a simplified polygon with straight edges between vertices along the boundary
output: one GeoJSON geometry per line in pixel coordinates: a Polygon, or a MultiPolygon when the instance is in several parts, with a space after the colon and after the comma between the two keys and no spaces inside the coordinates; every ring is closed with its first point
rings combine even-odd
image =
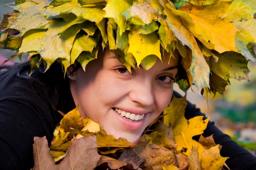
{"type": "Polygon", "coordinates": [[[150,106],[155,102],[154,88],[151,81],[141,79],[132,86],[129,97],[133,102],[137,102],[143,106],[150,106]]]}

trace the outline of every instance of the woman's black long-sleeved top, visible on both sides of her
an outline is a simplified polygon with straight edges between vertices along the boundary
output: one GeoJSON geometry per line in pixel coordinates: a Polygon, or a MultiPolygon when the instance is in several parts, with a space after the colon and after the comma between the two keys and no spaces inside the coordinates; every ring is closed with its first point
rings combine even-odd
{"type": "MultiPolygon", "coordinates": [[[[64,79],[61,66],[53,65],[45,73],[39,68],[30,77],[29,72],[28,62],[0,72],[1,170],[31,169],[34,137],[46,136],[50,144],[55,125],[61,120],[57,110],[68,113],[75,108],[68,79],[64,79]]],[[[174,94],[181,97],[176,92],[174,94]]],[[[188,102],[185,117],[189,119],[198,115],[204,114],[188,102]]],[[[203,135],[212,134],[214,141],[222,145],[220,154],[230,157],[226,163],[231,170],[256,169],[256,157],[209,122],[203,135]]]]}

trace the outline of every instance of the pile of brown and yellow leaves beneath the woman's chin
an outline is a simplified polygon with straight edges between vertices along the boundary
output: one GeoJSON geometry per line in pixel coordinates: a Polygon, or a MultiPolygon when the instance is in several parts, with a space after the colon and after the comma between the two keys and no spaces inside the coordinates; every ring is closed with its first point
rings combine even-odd
{"type": "Polygon", "coordinates": [[[173,97],[136,144],[107,135],[75,108],[56,127],[50,148],[45,137],[35,137],[33,170],[221,170],[227,157],[220,156],[221,146],[212,136],[192,139],[202,134],[209,119],[187,120],[185,108],[186,97],[173,97]]]}

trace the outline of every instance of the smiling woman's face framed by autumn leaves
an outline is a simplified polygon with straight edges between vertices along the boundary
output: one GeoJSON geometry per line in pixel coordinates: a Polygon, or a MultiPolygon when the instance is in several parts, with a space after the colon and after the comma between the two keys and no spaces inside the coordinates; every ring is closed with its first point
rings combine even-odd
{"type": "Polygon", "coordinates": [[[129,73],[114,53],[105,50],[85,72],[80,68],[71,77],[74,102],[82,117],[88,116],[117,139],[134,143],[170,103],[177,62],[173,57],[157,59],[148,71],[135,67],[129,73]]]}

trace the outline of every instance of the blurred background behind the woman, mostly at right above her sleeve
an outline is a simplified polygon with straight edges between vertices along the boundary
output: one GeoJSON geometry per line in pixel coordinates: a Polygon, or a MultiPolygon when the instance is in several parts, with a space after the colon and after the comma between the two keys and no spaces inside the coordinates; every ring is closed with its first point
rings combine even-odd
{"type": "MultiPolygon", "coordinates": [[[[0,20],[3,14],[13,11],[9,6],[13,6],[15,0],[0,0],[0,20]]],[[[15,51],[0,49],[0,55],[10,57],[15,51]]],[[[11,62],[23,62],[27,60],[26,55],[22,55],[21,61],[18,58],[11,62]]],[[[2,63],[0,63],[2,64],[2,63]]],[[[231,86],[225,88],[224,95],[209,95],[207,100],[200,96],[195,87],[193,91],[188,91],[187,99],[201,108],[202,113],[211,117],[211,121],[215,121],[216,126],[223,132],[229,134],[232,139],[241,146],[250,150],[256,155],[256,64],[248,63],[249,79],[237,81],[230,79],[231,86]]],[[[175,84],[175,90],[184,93],[175,84]]]]}

